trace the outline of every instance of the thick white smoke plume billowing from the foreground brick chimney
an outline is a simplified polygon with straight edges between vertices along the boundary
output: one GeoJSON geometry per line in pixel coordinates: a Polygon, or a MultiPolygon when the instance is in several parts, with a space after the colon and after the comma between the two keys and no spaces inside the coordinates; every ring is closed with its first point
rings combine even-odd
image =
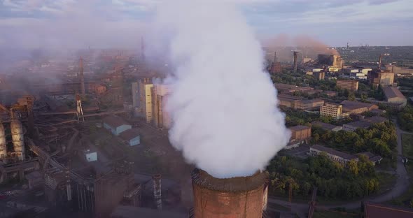
{"type": "Polygon", "coordinates": [[[160,6],[155,47],[174,66],[169,138],[190,163],[215,177],[251,175],[286,145],[290,132],[262,68],[260,43],[223,1],[160,6]]]}

